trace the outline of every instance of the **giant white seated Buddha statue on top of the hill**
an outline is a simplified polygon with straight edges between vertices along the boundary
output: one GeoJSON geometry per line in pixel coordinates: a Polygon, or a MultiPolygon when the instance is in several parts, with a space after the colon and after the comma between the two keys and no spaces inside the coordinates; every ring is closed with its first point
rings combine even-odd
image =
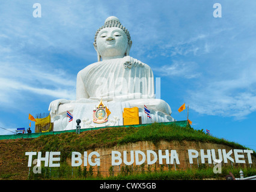
{"type": "MultiPolygon", "coordinates": [[[[56,122],[54,127],[58,127],[55,130],[67,128],[64,123],[67,110],[74,113],[74,118],[85,118],[87,127],[95,127],[90,116],[100,100],[109,106],[111,113],[116,112],[111,114],[115,125],[123,124],[124,107],[139,107],[141,116],[145,116],[144,106],[147,106],[153,116],[150,122],[174,121],[169,105],[155,98],[153,71],[147,64],[129,56],[131,47],[129,31],[117,17],[108,17],[94,39],[98,61],[78,73],[76,100],[59,99],[50,103],[50,116],[56,122]]],[[[110,122],[101,126],[113,125],[110,122]]],[[[148,122],[147,116],[142,118],[142,123],[148,122]]]]}

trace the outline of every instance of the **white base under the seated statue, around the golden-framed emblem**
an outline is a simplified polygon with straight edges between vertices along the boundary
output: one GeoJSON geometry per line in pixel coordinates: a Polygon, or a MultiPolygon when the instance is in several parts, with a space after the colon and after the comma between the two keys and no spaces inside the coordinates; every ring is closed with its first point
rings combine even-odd
{"type": "MultiPolygon", "coordinates": [[[[66,111],[58,113],[58,115],[53,116],[52,122],[54,122],[54,131],[64,131],[76,129],[76,119],[81,119],[81,128],[94,128],[94,127],[109,127],[123,125],[123,110],[124,108],[130,108],[128,101],[115,102],[115,101],[105,101],[104,104],[108,106],[111,114],[108,116],[108,122],[103,124],[96,124],[93,122],[93,109],[99,104],[96,103],[73,103],[73,109],[69,110],[73,115],[73,121],[69,122],[69,118],[66,116],[66,111]]],[[[69,104],[63,104],[61,108],[69,108],[69,104]]],[[[170,122],[175,121],[171,116],[166,115],[166,113],[150,110],[151,119],[148,118],[147,114],[144,112],[144,108],[139,107],[139,116],[141,116],[142,124],[150,124],[153,122],[170,122]]]]}

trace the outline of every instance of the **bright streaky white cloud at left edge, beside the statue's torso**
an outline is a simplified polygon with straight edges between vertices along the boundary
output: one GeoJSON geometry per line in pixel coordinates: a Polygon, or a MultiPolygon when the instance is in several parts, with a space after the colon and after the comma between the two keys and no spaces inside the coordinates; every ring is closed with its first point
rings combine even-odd
{"type": "Polygon", "coordinates": [[[75,99],[76,77],[62,70],[49,70],[31,64],[1,63],[0,105],[18,107],[23,95],[41,95],[53,98],[75,99]],[[14,67],[16,66],[16,67],[14,67]]]}

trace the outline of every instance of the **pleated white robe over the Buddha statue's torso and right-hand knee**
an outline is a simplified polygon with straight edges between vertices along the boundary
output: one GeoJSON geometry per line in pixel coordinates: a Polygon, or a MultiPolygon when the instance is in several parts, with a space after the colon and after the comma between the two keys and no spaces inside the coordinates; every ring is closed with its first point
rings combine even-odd
{"type": "Polygon", "coordinates": [[[76,101],[129,101],[130,107],[146,105],[171,115],[169,105],[155,99],[153,71],[147,64],[133,64],[130,56],[95,62],[79,71],[76,101]],[[128,62],[127,62],[128,61],[128,62]]]}

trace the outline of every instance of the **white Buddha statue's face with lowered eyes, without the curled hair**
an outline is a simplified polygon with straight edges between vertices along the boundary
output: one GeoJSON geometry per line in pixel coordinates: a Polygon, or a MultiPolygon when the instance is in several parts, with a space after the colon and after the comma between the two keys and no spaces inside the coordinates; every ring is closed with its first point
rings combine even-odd
{"type": "Polygon", "coordinates": [[[122,58],[127,51],[128,40],[122,29],[104,28],[97,35],[95,46],[103,60],[122,58]]]}

